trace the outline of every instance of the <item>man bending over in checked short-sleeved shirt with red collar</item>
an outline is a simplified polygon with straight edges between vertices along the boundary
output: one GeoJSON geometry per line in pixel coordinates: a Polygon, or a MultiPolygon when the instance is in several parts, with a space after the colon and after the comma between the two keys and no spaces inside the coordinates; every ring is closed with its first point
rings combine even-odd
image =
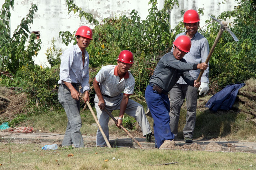
{"type": "MultiPolygon", "coordinates": [[[[128,71],[133,65],[133,53],[129,50],[123,50],[117,58],[117,65],[107,65],[97,73],[93,86],[96,92],[94,103],[97,111],[97,117],[103,132],[109,140],[108,122],[109,115],[104,111],[107,109],[110,113],[113,110],[120,110],[118,123],[120,128],[123,123],[123,114],[133,116],[139,123],[146,142],[151,141],[152,131],[150,129],[143,106],[129,99],[133,94],[135,80],[128,71]]],[[[98,129],[97,146],[105,146],[106,142],[98,129]]]]}

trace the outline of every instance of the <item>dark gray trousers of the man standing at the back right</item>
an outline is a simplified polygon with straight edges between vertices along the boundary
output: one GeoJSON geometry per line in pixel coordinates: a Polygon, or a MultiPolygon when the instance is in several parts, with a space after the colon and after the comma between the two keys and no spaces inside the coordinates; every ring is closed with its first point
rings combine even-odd
{"type": "Polygon", "coordinates": [[[188,84],[176,83],[170,91],[171,110],[169,113],[171,120],[170,127],[174,134],[174,139],[177,139],[180,111],[185,98],[187,103],[187,117],[183,129],[183,137],[193,138],[196,121],[197,88],[188,84]]]}

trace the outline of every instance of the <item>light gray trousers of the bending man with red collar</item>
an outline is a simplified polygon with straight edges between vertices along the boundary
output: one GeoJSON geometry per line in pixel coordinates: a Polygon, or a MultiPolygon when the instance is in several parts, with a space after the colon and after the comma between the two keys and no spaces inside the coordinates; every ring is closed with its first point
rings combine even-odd
{"type": "MultiPolygon", "coordinates": [[[[123,93],[113,98],[108,98],[105,96],[103,96],[103,98],[105,101],[105,108],[110,113],[112,113],[113,110],[120,110],[120,104],[123,98],[123,93]]],[[[108,132],[109,115],[104,110],[100,109],[100,107],[98,106],[98,103],[99,103],[99,98],[97,95],[95,95],[94,104],[97,111],[98,121],[107,139],[109,140],[109,132],[108,132]]],[[[139,123],[142,129],[143,136],[152,132],[142,105],[129,99],[125,113],[129,116],[133,116],[135,120],[139,123]]],[[[97,146],[106,145],[106,142],[99,129],[97,131],[96,145],[97,146]]]]}

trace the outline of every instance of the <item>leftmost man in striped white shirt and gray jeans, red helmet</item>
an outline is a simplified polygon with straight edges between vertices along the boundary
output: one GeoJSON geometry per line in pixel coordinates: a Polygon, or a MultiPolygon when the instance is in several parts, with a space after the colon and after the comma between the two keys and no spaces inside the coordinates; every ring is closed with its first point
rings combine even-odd
{"type": "Polygon", "coordinates": [[[92,30],[81,26],[76,31],[77,44],[65,50],[61,57],[58,99],[66,112],[68,123],[62,146],[84,147],[80,129],[80,93],[84,93],[84,102],[89,101],[89,54],[85,50],[93,37],[92,30]]]}

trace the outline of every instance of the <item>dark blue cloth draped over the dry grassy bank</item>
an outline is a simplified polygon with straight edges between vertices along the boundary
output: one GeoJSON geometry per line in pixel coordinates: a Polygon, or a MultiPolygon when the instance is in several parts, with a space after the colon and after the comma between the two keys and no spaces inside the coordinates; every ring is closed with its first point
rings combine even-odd
{"type": "Polygon", "coordinates": [[[206,103],[205,107],[210,110],[217,111],[218,109],[230,110],[235,103],[238,90],[243,87],[244,83],[229,84],[224,89],[214,94],[206,103]]]}

